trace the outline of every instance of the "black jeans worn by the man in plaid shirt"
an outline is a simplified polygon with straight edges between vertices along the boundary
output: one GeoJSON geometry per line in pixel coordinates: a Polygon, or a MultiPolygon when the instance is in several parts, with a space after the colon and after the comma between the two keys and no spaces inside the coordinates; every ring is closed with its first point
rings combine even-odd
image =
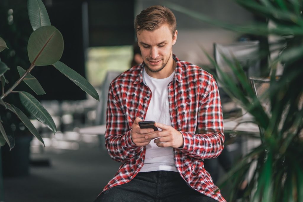
{"type": "Polygon", "coordinates": [[[178,172],[152,171],[138,173],[130,182],[112,187],[94,202],[116,201],[217,201],[193,190],[178,172]]]}

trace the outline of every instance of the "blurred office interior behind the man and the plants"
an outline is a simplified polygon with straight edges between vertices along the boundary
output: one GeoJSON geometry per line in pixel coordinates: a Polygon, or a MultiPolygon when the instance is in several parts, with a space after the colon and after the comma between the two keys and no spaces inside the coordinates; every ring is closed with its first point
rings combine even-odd
{"type": "MultiPolygon", "coordinates": [[[[68,64],[95,87],[100,102],[86,94],[52,66],[35,68],[32,75],[38,79],[46,92],[45,95],[36,98],[52,115],[57,132],[53,134],[45,125],[32,120],[45,142],[45,147],[35,137],[30,136],[29,158],[28,161],[24,160],[25,166],[28,165],[25,171],[15,176],[18,168],[9,171],[2,169],[0,201],[93,201],[114,176],[119,163],[113,161],[107,154],[104,134],[85,134],[80,131],[85,127],[104,124],[99,119],[101,114],[104,114],[104,107],[100,107],[102,106],[100,103],[104,104],[107,99],[107,92],[104,89],[108,89],[108,83],[105,81],[109,78],[109,72],[123,72],[130,68],[132,46],[136,41],[133,28],[135,16],[144,8],[155,4],[165,5],[165,2],[156,0],[43,0],[42,2],[45,4],[52,25],[58,28],[64,38],[65,47],[60,61],[68,64]]],[[[232,0],[167,0],[166,2],[238,25],[256,21],[254,15],[232,0]]],[[[0,11],[4,13],[1,14],[0,22],[7,23],[7,11],[12,9],[14,22],[11,27],[14,23],[18,24],[15,30],[13,28],[0,30],[0,36],[19,37],[15,43],[28,38],[31,25],[27,16],[27,2],[4,0],[0,6],[2,7],[0,11]]],[[[178,30],[173,53],[179,59],[201,68],[215,72],[215,67],[208,60],[203,49],[215,57],[215,48],[220,45],[224,47],[240,41],[258,40],[254,36],[219,28],[173,9],[172,11],[177,19],[178,30]]],[[[13,42],[8,45],[18,47],[13,42]]],[[[22,48],[26,47],[24,41],[21,45],[22,48]]],[[[6,51],[0,53],[1,58],[8,52],[11,56],[24,53],[21,48],[6,51]]],[[[12,61],[11,64],[21,62],[19,65],[28,67],[30,63],[26,58],[27,55],[18,57],[20,59],[12,61]]],[[[258,76],[260,73],[257,62],[259,61],[254,63],[255,68],[251,68],[248,72],[251,76],[258,76]]],[[[14,74],[18,74],[14,69],[15,67],[12,66],[10,70],[11,82],[16,78],[14,74]]],[[[31,91],[26,85],[20,85],[20,89],[31,91]]],[[[230,104],[232,100],[221,88],[220,93],[224,116],[242,113],[241,108],[230,104]]],[[[24,131],[22,126],[14,127],[19,133],[24,131]]],[[[18,144],[16,141],[15,148],[10,151],[11,155],[18,155],[22,143],[18,144]]],[[[236,159],[247,150],[247,147],[253,147],[254,144],[258,143],[239,138],[226,147],[236,159]]],[[[4,147],[1,148],[3,149],[4,147]]],[[[26,155],[22,158],[26,158],[26,155]]],[[[11,158],[15,159],[15,157],[11,158]]],[[[8,161],[6,159],[6,162],[8,161]]],[[[15,165],[16,162],[12,160],[10,163],[15,165]]],[[[224,175],[225,171],[220,165],[218,169],[219,176],[224,175]]],[[[228,188],[222,188],[222,194],[224,197],[227,196],[228,188]]]]}

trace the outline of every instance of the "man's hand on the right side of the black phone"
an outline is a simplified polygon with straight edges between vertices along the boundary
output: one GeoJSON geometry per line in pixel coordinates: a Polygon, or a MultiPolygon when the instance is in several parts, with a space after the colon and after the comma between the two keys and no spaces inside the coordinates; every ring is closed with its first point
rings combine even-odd
{"type": "Polygon", "coordinates": [[[184,140],[181,132],[171,126],[161,123],[155,123],[155,127],[161,128],[162,131],[155,134],[145,135],[145,139],[157,138],[154,142],[158,147],[183,147],[184,140]]]}

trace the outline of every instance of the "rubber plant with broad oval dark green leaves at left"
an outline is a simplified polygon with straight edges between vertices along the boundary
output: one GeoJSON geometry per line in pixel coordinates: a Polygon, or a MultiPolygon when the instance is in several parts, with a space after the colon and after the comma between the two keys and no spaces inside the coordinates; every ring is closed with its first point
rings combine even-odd
{"type": "MultiPolygon", "coordinates": [[[[35,118],[45,124],[54,134],[57,130],[51,115],[32,94],[26,91],[16,91],[16,87],[19,84],[25,83],[37,95],[45,94],[45,91],[38,80],[30,74],[35,68],[43,68],[40,66],[52,65],[78,85],[83,91],[90,94],[96,100],[99,100],[97,91],[85,78],[59,61],[64,48],[63,37],[60,31],[51,25],[43,2],[41,0],[28,0],[27,7],[29,22],[33,30],[27,43],[27,53],[30,64],[21,62],[22,64],[20,65],[22,65],[22,67],[8,67],[5,60],[3,60],[3,58],[1,58],[2,60],[0,59],[0,81],[2,89],[0,96],[0,147],[7,144],[10,150],[15,146],[15,137],[12,131],[9,130],[12,121],[11,117],[18,118],[22,123],[22,126],[26,128],[24,131],[33,134],[43,145],[44,141],[29,117],[35,118]],[[26,65],[28,66],[26,67],[26,65]],[[18,72],[18,79],[15,82],[8,82],[5,75],[13,68],[18,72]],[[13,95],[17,96],[17,99],[14,99],[14,101],[17,100],[17,104],[12,104],[12,102],[10,102],[12,99],[7,99],[13,95]],[[4,125],[8,125],[8,127],[4,127],[4,125]]],[[[8,12],[12,11],[8,10],[8,12]]],[[[8,24],[10,23],[10,20],[12,19],[8,17],[8,24]]],[[[18,33],[18,35],[20,35],[20,33],[18,33]]],[[[0,52],[8,48],[9,47],[5,43],[5,38],[2,38],[0,35],[0,52]]],[[[11,59],[13,60],[14,55],[11,56],[11,59]]],[[[19,127],[19,125],[17,125],[17,127],[19,127]]]]}

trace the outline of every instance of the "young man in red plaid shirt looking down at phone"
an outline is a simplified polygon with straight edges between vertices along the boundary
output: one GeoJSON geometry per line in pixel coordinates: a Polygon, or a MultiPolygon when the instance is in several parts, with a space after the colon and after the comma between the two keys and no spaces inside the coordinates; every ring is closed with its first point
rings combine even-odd
{"type": "Polygon", "coordinates": [[[203,159],[223,149],[223,116],[212,75],[172,54],[176,19],[152,6],[135,19],[143,63],[112,81],[105,144],[122,162],[95,201],[225,201],[203,159]],[[141,129],[139,121],[159,128],[141,129]]]}

